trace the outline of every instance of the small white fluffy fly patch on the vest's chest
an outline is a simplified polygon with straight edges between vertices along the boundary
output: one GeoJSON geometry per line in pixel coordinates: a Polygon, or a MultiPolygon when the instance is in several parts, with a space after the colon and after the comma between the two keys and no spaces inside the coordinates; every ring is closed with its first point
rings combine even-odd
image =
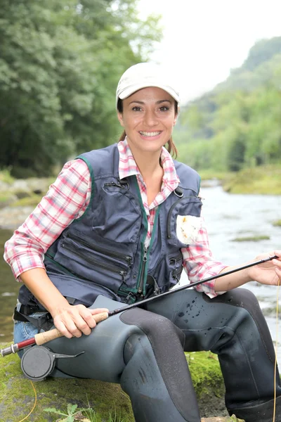
{"type": "Polygon", "coordinates": [[[178,215],[176,217],[176,236],[186,245],[196,243],[198,233],[202,227],[202,217],[193,215],[178,215]]]}

